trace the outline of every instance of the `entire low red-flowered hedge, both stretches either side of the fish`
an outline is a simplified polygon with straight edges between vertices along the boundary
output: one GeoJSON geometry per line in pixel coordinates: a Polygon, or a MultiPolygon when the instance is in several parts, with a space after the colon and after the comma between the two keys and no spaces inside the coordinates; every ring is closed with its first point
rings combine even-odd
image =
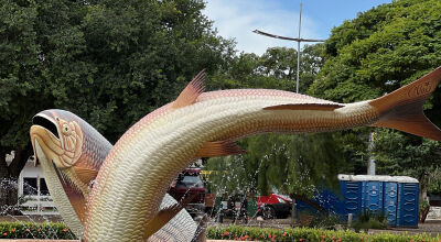
{"type": "MultiPolygon", "coordinates": [[[[208,227],[207,238],[216,240],[259,240],[259,241],[391,241],[422,242],[441,241],[441,237],[430,234],[390,234],[390,233],[356,233],[343,230],[320,230],[308,228],[254,228],[254,227],[208,227]]],[[[0,222],[0,239],[60,239],[73,240],[75,235],[62,222],[0,222]]]]}

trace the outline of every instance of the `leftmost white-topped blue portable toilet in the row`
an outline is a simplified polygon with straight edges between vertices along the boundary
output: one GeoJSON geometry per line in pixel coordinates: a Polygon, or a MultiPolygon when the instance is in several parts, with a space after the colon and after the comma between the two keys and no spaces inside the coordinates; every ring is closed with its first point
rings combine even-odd
{"type": "Polygon", "coordinates": [[[347,218],[348,213],[354,217],[362,210],[362,189],[363,179],[353,175],[338,175],[340,188],[342,191],[343,201],[341,202],[341,215],[347,218]]]}

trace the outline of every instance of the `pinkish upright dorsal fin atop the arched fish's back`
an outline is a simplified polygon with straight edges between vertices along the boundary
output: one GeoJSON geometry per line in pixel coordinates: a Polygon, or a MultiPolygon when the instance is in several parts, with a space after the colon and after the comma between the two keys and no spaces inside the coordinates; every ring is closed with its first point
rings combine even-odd
{"type": "Polygon", "coordinates": [[[204,92],[205,70],[198,73],[192,81],[185,87],[180,94],[176,100],[173,102],[173,109],[180,109],[190,105],[193,105],[197,97],[204,92]]]}

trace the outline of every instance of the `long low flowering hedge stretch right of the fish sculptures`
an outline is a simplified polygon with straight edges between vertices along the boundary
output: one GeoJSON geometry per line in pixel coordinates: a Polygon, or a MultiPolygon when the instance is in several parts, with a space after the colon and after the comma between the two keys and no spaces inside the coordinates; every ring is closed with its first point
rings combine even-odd
{"type": "Polygon", "coordinates": [[[209,227],[207,229],[207,239],[213,240],[259,240],[259,241],[439,241],[441,237],[432,238],[429,234],[389,234],[377,233],[366,234],[344,230],[320,230],[309,228],[252,228],[252,227],[209,227]]]}

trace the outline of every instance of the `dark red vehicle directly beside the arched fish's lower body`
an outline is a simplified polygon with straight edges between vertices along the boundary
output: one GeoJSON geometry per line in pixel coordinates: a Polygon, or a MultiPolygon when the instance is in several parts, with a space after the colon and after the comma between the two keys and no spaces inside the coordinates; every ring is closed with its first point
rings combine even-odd
{"type": "Polygon", "coordinates": [[[201,179],[201,168],[186,168],[179,174],[172,182],[169,194],[180,201],[184,196],[196,195],[186,206],[186,210],[193,217],[204,215],[205,212],[205,193],[204,183],[201,179]]]}

